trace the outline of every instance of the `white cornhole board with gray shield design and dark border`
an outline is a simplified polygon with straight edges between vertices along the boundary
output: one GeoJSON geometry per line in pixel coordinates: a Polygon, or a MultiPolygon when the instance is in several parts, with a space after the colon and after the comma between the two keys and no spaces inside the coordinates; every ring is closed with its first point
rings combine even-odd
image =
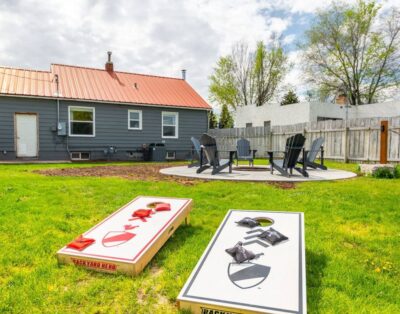
{"type": "Polygon", "coordinates": [[[182,288],[179,307],[202,314],[306,313],[304,249],[303,213],[230,210],[182,288]],[[272,224],[235,223],[245,217],[267,217],[272,224]],[[258,237],[270,228],[288,239],[272,245],[258,237]],[[239,241],[263,255],[236,263],[225,249],[239,241]]]}

